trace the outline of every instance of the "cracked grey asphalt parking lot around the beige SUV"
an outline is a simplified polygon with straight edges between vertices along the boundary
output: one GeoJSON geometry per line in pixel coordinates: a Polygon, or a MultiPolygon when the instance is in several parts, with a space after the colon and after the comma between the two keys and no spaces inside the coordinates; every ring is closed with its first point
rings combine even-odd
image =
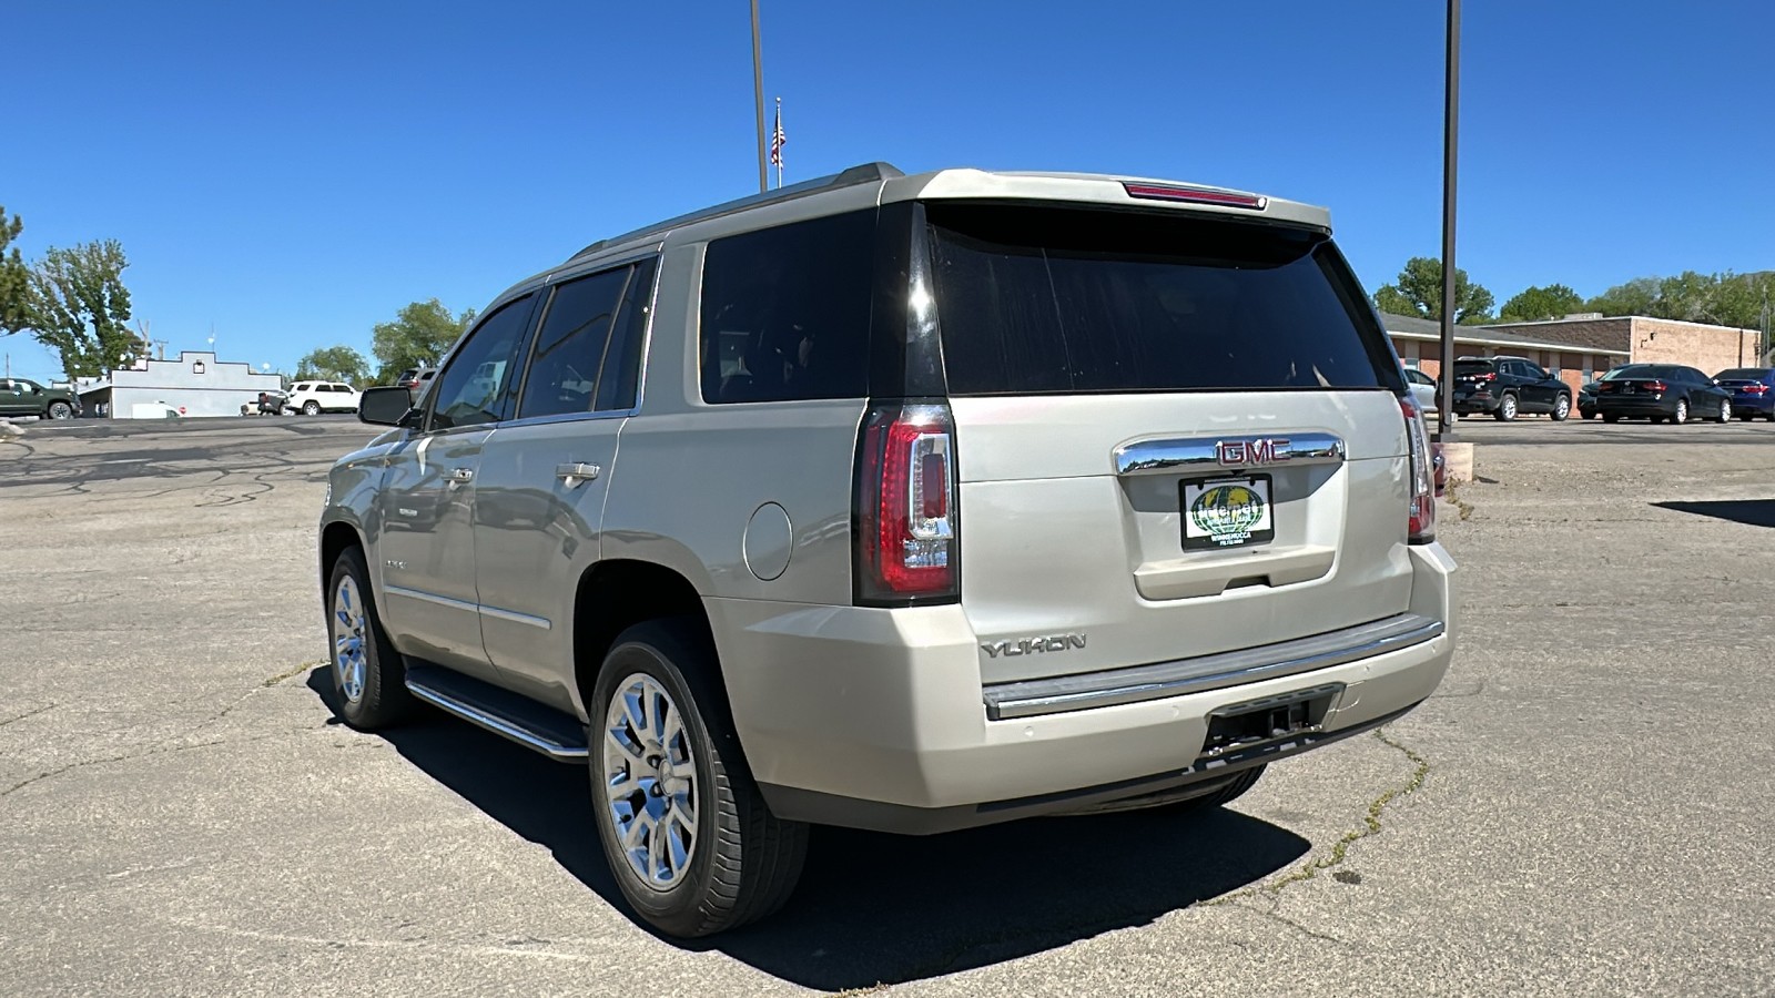
{"type": "Polygon", "coordinates": [[[1232,808],[825,831],[694,947],[586,774],[332,723],[339,419],[0,439],[0,994],[1770,994],[1775,426],[1463,421],[1459,652],[1232,808]]]}

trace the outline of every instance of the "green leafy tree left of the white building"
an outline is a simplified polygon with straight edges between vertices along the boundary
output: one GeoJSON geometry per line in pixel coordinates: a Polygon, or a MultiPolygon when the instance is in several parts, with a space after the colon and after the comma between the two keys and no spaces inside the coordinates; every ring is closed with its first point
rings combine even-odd
{"type": "Polygon", "coordinates": [[[126,266],[117,240],[51,247],[30,266],[25,329],[62,357],[69,378],[94,378],[135,352],[126,266]]]}

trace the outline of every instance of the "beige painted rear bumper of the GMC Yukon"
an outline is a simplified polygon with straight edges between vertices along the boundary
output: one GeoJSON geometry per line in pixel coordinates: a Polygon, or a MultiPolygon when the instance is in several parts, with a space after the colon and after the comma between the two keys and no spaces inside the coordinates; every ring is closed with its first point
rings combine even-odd
{"type": "Polygon", "coordinates": [[[786,819],[944,831],[1187,788],[1384,723],[1454,648],[1454,561],[1409,549],[1411,607],[1445,630],[1354,661],[1147,700],[990,719],[958,606],[902,611],[706,600],[753,776],[786,819]],[[1205,758],[1218,709],[1337,685],[1317,732],[1205,758]]]}

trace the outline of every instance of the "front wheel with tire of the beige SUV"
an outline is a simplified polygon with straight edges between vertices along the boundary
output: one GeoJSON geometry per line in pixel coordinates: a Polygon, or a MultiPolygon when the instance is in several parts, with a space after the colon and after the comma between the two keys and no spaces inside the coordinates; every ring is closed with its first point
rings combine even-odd
{"type": "Polygon", "coordinates": [[[334,712],[359,732],[406,719],[417,701],[406,691],[406,662],[376,613],[362,549],[348,547],[334,561],[325,607],[334,712]]]}

